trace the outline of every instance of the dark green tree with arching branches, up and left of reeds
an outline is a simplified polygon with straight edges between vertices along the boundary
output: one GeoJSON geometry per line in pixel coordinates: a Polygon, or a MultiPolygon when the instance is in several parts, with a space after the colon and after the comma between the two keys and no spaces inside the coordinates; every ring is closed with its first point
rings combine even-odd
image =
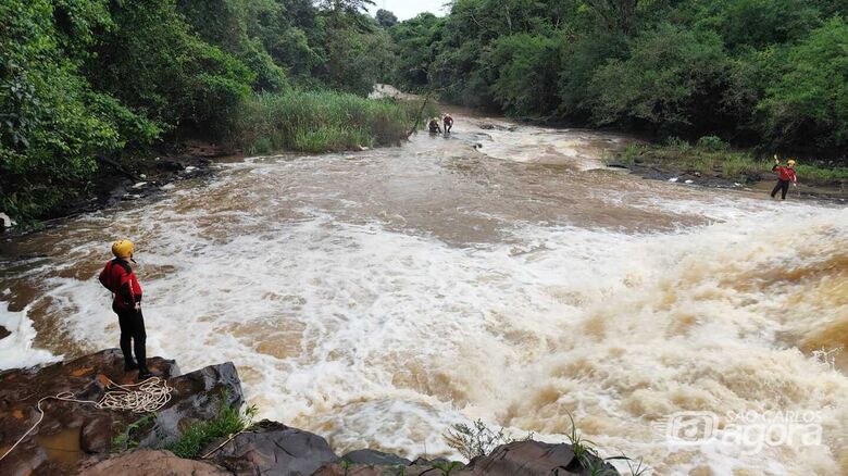
{"type": "Polygon", "coordinates": [[[255,73],[192,35],[173,0],[112,5],[88,67],[99,90],[170,129],[219,127],[250,95],[255,73]]]}

